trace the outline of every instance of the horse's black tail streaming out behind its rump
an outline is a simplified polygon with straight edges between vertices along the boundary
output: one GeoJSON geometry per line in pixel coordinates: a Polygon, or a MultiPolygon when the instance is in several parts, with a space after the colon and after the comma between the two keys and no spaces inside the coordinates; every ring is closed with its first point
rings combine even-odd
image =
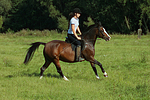
{"type": "Polygon", "coordinates": [[[43,43],[43,42],[35,42],[35,43],[32,43],[31,47],[28,49],[28,52],[27,52],[27,55],[26,55],[26,58],[24,60],[24,64],[27,64],[29,61],[31,61],[33,55],[34,55],[34,52],[35,50],[40,46],[40,45],[45,45],[46,43],[43,43]]]}

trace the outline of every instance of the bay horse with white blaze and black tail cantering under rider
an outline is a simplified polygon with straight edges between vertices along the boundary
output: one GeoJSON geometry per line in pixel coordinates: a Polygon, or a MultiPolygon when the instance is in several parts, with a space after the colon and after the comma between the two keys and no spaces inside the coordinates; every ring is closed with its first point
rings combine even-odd
{"type": "MultiPolygon", "coordinates": [[[[94,55],[95,55],[94,45],[97,38],[102,38],[106,41],[109,41],[111,38],[106,32],[105,28],[100,23],[89,26],[88,30],[82,34],[81,40],[84,41],[84,49],[82,50],[81,54],[86,61],[90,62],[93,71],[96,75],[96,78],[100,79],[95,64],[100,66],[105,77],[108,77],[108,75],[105,72],[104,68],[102,67],[102,64],[96,59],[94,59],[94,55]]],[[[45,58],[45,63],[40,68],[41,70],[40,79],[42,79],[43,77],[43,72],[53,62],[54,65],[56,66],[57,72],[62,76],[64,80],[68,81],[68,79],[64,76],[61,70],[59,60],[64,62],[69,62],[69,63],[76,62],[75,51],[72,50],[71,43],[67,43],[65,41],[60,41],[60,40],[52,40],[48,43],[35,42],[32,43],[31,45],[32,46],[28,49],[27,55],[25,57],[24,64],[27,64],[32,59],[35,50],[40,45],[44,45],[45,47],[43,50],[43,55],[45,58]]]]}

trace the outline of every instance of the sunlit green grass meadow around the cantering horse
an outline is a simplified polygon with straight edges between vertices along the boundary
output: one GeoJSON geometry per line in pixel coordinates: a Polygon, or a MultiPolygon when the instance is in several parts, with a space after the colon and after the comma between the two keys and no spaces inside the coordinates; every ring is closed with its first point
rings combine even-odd
{"type": "Polygon", "coordinates": [[[95,58],[103,64],[108,77],[96,66],[97,80],[89,62],[61,62],[64,81],[54,64],[39,79],[44,63],[43,46],[28,65],[23,61],[28,44],[64,40],[65,35],[22,31],[0,35],[0,100],[149,100],[150,36],[111,35],[111,40],[97,40],[95,58]],[[46,34],[46,35],[45,35],[46,34]]]}

